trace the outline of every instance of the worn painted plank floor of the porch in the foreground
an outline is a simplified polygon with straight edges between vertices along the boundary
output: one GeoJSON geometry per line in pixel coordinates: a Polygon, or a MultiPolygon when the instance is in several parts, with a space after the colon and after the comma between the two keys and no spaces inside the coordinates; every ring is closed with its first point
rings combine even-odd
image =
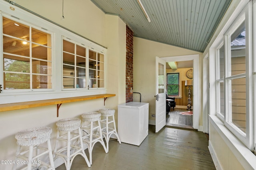
{"type": "MultiPolygon", "coordinates": [[[[92,166],[88,168],[82,156],[74,159],[71,170],[215,170],[206,135],[198,131],[164,127],[149,135],[140,146],[109,143],[106,154],[100,143],[92,150],[92,166]]],[[[86,149],[88,156],[88,150],[86,149]]],[[[62,164],[56,170],[65,170],[62,164]]]]}

